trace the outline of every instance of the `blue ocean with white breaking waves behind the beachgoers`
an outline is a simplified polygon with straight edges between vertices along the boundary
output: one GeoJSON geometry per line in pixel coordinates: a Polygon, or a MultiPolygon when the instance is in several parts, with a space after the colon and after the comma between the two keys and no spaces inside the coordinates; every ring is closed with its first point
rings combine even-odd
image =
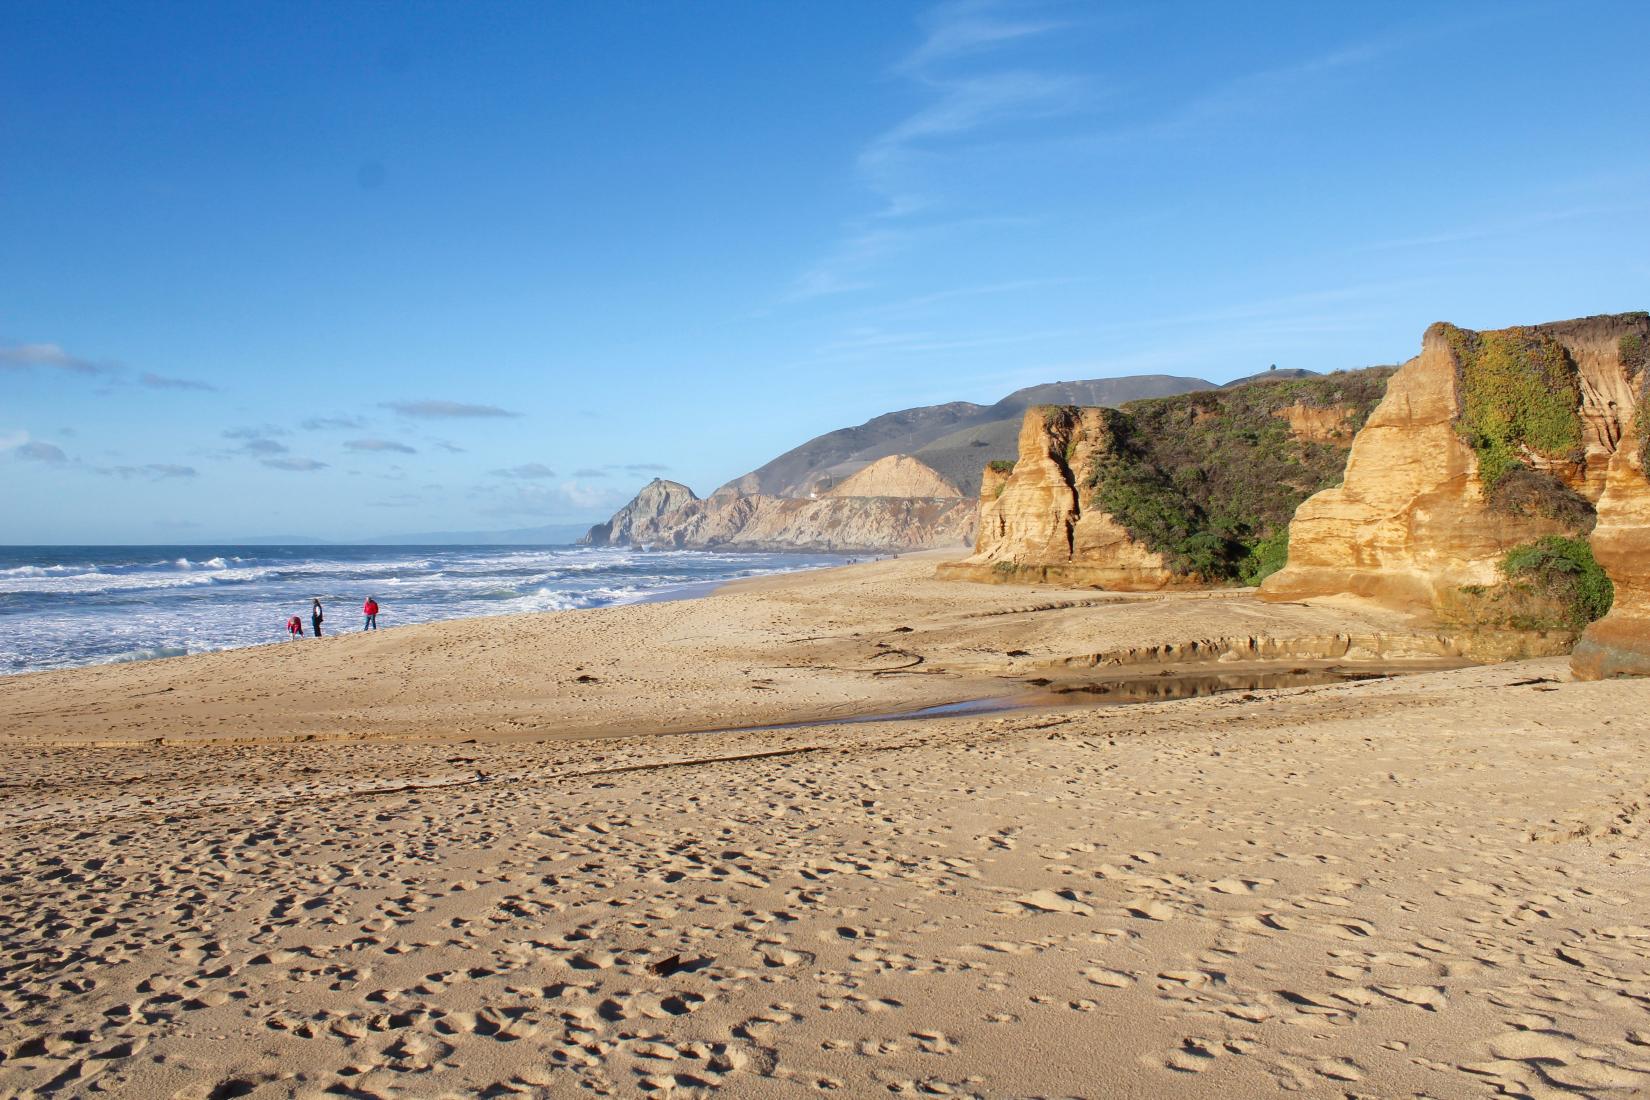
{"type": "Polygon", "coordinates": [[[670,599],[827,554],[578,546],[0,546],[0,675],[180,656],[309,632],[670,599]]]}

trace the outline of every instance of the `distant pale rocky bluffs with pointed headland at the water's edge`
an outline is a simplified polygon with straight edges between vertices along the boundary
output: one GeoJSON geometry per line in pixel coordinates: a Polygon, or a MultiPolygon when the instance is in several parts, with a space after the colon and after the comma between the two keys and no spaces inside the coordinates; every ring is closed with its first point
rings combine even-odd
{"type": "Polygon", "coordinates": [[[965,546],[975,501],[908,455],[865,467],[825,496],[767,496],[723,488],[700,498],[655,478],[584,546],[904,552],[965,546]]]}

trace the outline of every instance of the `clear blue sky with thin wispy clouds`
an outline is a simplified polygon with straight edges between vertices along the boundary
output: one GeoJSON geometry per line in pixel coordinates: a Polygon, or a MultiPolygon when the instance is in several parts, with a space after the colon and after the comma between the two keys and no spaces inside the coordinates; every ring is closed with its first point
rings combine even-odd
{"type": "Polygon", "coordinates": [[[1650,307],[1642,3],[0,5],[7,543],[602,518],[1650,307]]]}

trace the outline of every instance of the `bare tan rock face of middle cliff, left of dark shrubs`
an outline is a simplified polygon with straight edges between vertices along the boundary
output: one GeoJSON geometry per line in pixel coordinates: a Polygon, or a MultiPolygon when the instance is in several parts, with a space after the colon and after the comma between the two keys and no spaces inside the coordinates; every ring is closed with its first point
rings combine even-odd
{"type": "Polygon", "coordinates": [[[1110,416],[1058,406],[1026,411],[1013,470],[985,470],[974,556],[942,564],[939,576],[1129,592],[1181,581],[1106,511],[1084,508],[1084,472],[1114,445],[1110,416]]]}

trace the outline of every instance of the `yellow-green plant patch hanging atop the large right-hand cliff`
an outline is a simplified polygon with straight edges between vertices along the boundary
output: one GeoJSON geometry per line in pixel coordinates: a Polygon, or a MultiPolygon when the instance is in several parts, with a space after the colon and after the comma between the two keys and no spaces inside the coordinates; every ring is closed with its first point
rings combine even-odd
{"type": "Polygon", "coordinates": [[[1455,351],[1460,419],[1455,430],[1478,455],[1490,508],[1543,515],[1591,529],[1592,505],[1530,455],[1581,467],[1581,374],[1569,351],[1539,328],[1470,331],[1447,325],[1455,351]]]}

